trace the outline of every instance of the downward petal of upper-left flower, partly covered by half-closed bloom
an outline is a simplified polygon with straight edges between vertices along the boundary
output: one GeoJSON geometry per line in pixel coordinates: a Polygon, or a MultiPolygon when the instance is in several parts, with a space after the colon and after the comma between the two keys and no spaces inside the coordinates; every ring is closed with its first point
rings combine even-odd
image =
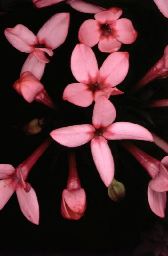
{"type": "Polygon", "coordinates": [[[28,58],[23,64],[20,76],[25,71],[30,71],[34,76],[36,76],[40,80],[43,76],[45,65],[46,64],[44,62],[41,62],[36,58],[34,53],[31,53],[28,55],[28,58]]]}

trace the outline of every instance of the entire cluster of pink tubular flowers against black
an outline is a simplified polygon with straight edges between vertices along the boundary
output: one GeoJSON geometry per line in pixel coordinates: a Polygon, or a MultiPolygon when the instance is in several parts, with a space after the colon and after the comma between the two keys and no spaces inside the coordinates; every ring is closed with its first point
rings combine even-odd
{"type": "MultiPolygon", "coordinates": [[[[37,8],[41,8],[63,1],[33,0],[33,3],[37,8]]],[[[168,15],[167,0],[154,0],[154,2],[165,16],[168,15]]],[[[92,104],[92,124],[57,128],[50,132],[50,139],[47,139],[16,169],[9,164],[0,165],[0,178],[2,179],[0,181],[0,209],[16,191],[21,211],[29,221],[35,224],[39,223],[38,200],[35,191],[25,180],[32,166],[52,139],[69,148],[79,147],[91,141],[93,161],[106,187],[112,186],[110,184],[115,175],[115,164],[108,140],[142,140],[154,141],[157,144],[154,140],[155,136],[145,127],[130,122],[114,122],[117,115],[116,108],[109,100],[110,96],[122,96],[124,93],[116,86],[127,76],[129,53],[119,50],[122,44],[134,43],[138,36],[131,20],[121,18],[123,11],[117,7],[107,10],[82,0],[68,0],[66,3],[77,11],[94,14],[94,19],[85,20],[81,24],[78,31],[79,43],[72,51],[70,68],[77,82],[74,79],[73,83],[68,84],[62,95],[63,100],[76,106],[87,108],[92,104]],[[91,49],[96,44],[101,52],[109,53],[100,69],[91,49]]],[[[46,63],[50,61],[47,56],[52,57],[54,49],[66,40],[69,23],[70,13],[57,13],[40,28],[36,36],[22,24],[5,29],[4,34],[9,43],[19,51],[29,54],[22,66],[19,79],[13,84],[13,88],[28,103],[36,100],[55,110],[56,106],[40,80],[46,63]]],[[[168,76],[167,55],[168,46],[161,60],[148,71],[134,90],[140,89],[155,78],[168,76]]],[[[156,101],[150,107],[167,106],[167,101],[156,101]]],[[[168,191],[167,157],[159,161],[151,158],[133,144],[124,141],[122,145],[137,158],[152,177],[148,186],[149,205],[156,215],[164,217],[166,191],[168,191]]],[[[158,146],[161,147],[160,144],[158,146]]],[[[110,195],[112,198],[117,197],[116,194],[110,195]]],[[[69,178],[67,188],[62,192],[61,213],[64,218],[78,220],[84,215],[85,209],[86,193],[80,185],[75,153],[70,149],[69,178]]]]}

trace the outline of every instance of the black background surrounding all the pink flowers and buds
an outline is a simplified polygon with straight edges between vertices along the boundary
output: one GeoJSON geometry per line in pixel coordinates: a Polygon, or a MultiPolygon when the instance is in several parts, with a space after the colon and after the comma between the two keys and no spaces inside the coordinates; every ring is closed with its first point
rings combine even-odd
{"type": "MultiPolygon", "coordinates": [[[[145,108],[153,99],[166,98],[167,78],[156,79],[139,93],[132,96],[130,94],[130,89],[163,56],[164,48],[168,44],[168,19],[159,12],[152,0],[88,2],[105,8],[122,8],[122,17],[130,19],[138,32],[135,43],[123,44],[121,48],[121,51],[130,53],[130,69],[126,79],[118,86],[125,92],[124,95],[110,98],[117,110],[116,121],[141,124],[168,141],[167,108],[145,108]]],[[[81,108],[62,100],[66,85],[75,82],[70,70],[70,56],[78,43],[78,29],[89,18],[93,18],[93,14],[77,12],[65,2],[36,9],[30,0],[1,0],[1,163],[16,167],[53,129],[91,124],[93,104],[88,108],[81,108]],[[4,29],[21,23],[36,34],[52,15],[59,12],[70,12],[68,37],[64,44],[54,50],[54,56],[46,65],[41,79],[46,91],[58,106],[58,111],[54,112],[40,103],[27,103],[12,88],[28,54],[12,47],[4,36],[4,29]],[[35,117],[46,118],[44,129],[37,135],[27,136],[22,131],[23,124],[35,117]]],[[[100,67],[108,54],[99,52],[97,45],[93,50],[100,67]]],[[[166,156],[153,143],[134,143],[159,160],[166,156]]],[[[82,252],[96,255],[132,255],[141,231],[151,229],[156,221],[167,229],[167,212],[166,217],[161,219],[148,205],[148,173],[116,141],[109,141],[109,145],[115,160],[115,178],[126,188],[124,200],[115,203],[108,197],[107,188],[94,166],[90,144],[87,143],[76,148],[81,186],[87,194],[87,209],[80,220],[64,219],[60,213],[60,203],[68,178],[68,154],[66,147],[54,141],[32,168],[27,179],[39,200],[39,226],[30,223],[23,216],[14,194],[0,212],[2,255],[5,255],[5,251],[17,252],[17,255],[19,252],[23,255],[26,251],[29,252],[28,255],[33,255],[35,251],[40,255],[45,252],[46,255],[83,255],[82,252]]]]}

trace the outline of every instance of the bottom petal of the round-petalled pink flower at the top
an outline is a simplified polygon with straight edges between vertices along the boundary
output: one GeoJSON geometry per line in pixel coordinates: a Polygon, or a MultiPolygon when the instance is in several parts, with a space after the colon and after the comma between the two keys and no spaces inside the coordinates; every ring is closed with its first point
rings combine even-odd
{"type": "Polygon", "coordinates": [[[112,35],[102,36],[98,48],[101,52],[116,52],[121,48],[121,42],[112,35]]]}

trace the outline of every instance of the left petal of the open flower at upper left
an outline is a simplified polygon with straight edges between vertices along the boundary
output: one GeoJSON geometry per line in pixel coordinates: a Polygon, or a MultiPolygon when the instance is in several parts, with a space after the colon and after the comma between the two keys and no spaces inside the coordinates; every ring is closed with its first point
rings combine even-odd
{"type": "Polygon", "coordinates": [[[33,32],[22,24],[18,24],[14,28],[6,28],[4,34],[9,43],[21,52],[33,52],[34,45],[38,44],[33,32]]]}

